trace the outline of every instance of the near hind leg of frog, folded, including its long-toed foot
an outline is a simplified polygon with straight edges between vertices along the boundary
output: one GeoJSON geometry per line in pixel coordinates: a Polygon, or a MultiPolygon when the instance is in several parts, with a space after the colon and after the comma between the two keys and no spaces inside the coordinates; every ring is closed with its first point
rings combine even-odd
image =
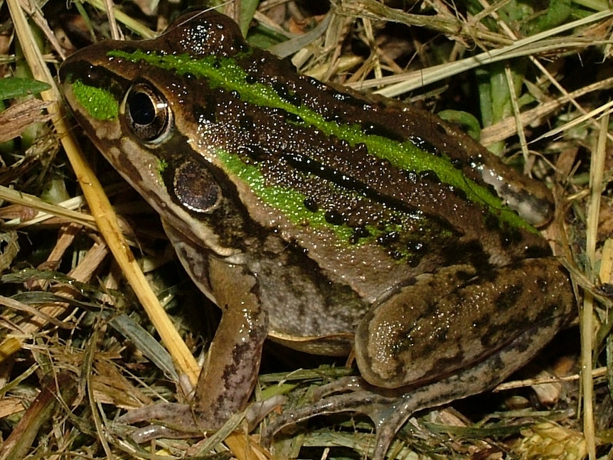
{"type": "Polygon", "coordinates": [[[553,258],[474,274],[469,266],[446,267],[378,302],[356,333],[368,383],[351,380],[349,392],[284,411],[263,439],[316,414],[360,412],[375,423],[373,459],[382,460],[411,414],[494,387],[570,317],[570,282],[553,258]]]}

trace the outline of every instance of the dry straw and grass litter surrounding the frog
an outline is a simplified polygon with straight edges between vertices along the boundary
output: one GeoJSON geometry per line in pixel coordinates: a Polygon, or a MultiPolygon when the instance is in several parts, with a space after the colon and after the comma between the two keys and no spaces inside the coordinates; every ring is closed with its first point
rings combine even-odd
{"type": "MultiPolygon", "coordinates": [[[[68,10],[61,1],[46,4],[42,11],[26,11],[38,26],[48,66],[37,57],[35,37],[20,20],[18,3],[9,4],[18,38],[6,33],[12,28],[2,6],[4,75],[31,72],[49,80],[58,60],[72,51],[63,41],[63,28],[87,29],[75,18],[62,17],[68,10]],[[27,63],[13,57],[16,40],[27,63]]],[[[325,19],[326,33],[295,38],[280,51],[295,53],[294,63],[304,73],[323,80],[378,90],[434,112],[470,107],[481,116],[481,141],[547,183],[558,204],[546,236],[580,287],[583,353],[579,334],[566,332],[527,373],[547,381],[538,386],[537,405],[533,390],[525,388],[533,383],[528,380],[522,382],[524,390],[506,390],[494,399],[479,395],[454,408],[422,414],[398,434],[393,458],[579,459],[590,446],[597,448],[597,456],[610,458],[612,380],[600,366],[612,353],[606,323],[613,260],[607,240],[613,222],[608,132],[613,16],[604,1],[568,6],[551,1],[546,12],[528,11],[510,1],[496,7],[470,5],[458,11],[439,1],[410,7],[405,2],[405,11],[400,11],[373,0],[337,1],[325,19]],[[580,405],[577,373],[592,365],[597,369],[584,373],[582,381],[585,395],[592,395],[595,385],[595,405],[590,408],[580,405]],[[552,382],[549,375],[557,378],[552,382]]],[[[247,9],[246,2],[243,6],[247,9]]],[[[97,36],[116,36],[118,30],[151,36],[141,23],[163,29],[178,11],[171,4],[162,4],[157,15],[143,12],[149,7],[144,4],[123,7],[124,13],[116,12],[119,25],[113,26],[97,10],[104,5],[91,1],[83,6],[97,36]]],[[[302,35],[317,30],[324,21],[316,16],[321,12],[269,0],[260,4],[255,19],[302,35]]],[[[247,12],[247,19],[252,14],[247,12]]],[[[261,28],[252,32],[258,43],[270,36],[261,28]]],[[[0,196],[5,200],[0,208],[0,460],[150,458],[125,441],[127,433],[112,419],[118,410],[172,400],[177,379],[173,363],[178,363],[179,373],[196,378],[198,365],[192,355],[202,353],[214,332],[215,308],[190,301],[198,299],[198,293],[185,277],[177,276],[156,216],[137,194],[90,144],[82,142],[88,146],[82,156],[78,145],[67,141],[68,132],[80,140],[82,134],[55,105],[58,92],[52,87],[42,98],[50,105],[43,110],[54,127],[41,119],[40,105],[23,106],[19,123],[29,116],[31,124],[21,137],[0,146],[0,196]],[[102,188],[92,191],[96,178],[122,216],[118,222],[108,217],[102,188]],[[128,243],[122,242],[122,234],[128,243]],[[148,305],[150,314],[159,315],[156,297],[174,323],[164,326],[163,317],[154,319],[154,332],[139,301],[148,305]],[[172,342],[175,328],[184,342],[171,349],[171,358],[153,337],[157,333],[172,342]]],[[[11,119],[0,120],[9,127],[11,119]]],[[[277,359],[274,350],[265,358],[277,359]]],[[[351,372],[317,368],[317,363],[303,363],[314,370],[262,375],[257,399],[283,392],[298,404],[307,401],[312,387],[351,372]]],[[[226,445],[236,456],[267,458],[267,451],[257,446],[257,434],[243,434],[240,415],[204,442],[164,441],[155,449],[159,456],[177,457],[224,451],[218,441],[233,430],[238,434],[226,445]],[[243,449],[248,451],[244,456],[239,454],[243,449]]],[[[372,430],[363,419],[318,419],[308,430],[278,442],[275,458],[363,458],[373,441],[372,430]],[[330,446],[341,447],[328,450],[330,446]]]]}

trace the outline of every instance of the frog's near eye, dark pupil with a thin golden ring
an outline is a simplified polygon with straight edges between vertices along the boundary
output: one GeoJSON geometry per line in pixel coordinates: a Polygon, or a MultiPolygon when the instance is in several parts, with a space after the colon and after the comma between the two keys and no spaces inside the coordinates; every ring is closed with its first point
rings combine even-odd
{"type": "Polygon", "coordinates": [[[157,144],[170,131],[172,112],[168,101],[151,85],[132,85],[124,97],[128,127],[142,141],[157,144]]]}

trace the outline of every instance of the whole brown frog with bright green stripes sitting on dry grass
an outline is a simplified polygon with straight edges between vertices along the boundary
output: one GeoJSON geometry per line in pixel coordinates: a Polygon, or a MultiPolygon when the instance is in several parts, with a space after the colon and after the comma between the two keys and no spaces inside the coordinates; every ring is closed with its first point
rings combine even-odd
{"type": "Polygon", "coordinates": [[[412,414],[491,389],[572,316],[569,276],[538,230],[554,210],[543,183],[424,109],[300,75],[223,14],[95,43],[59,77],[222,311],[192,399],[121,417],[159,421],[139,442],[243,410],[270,340],[353,353],[359,376],[284,410],[264,437],[361,412],[380,460],[412,414]]]}

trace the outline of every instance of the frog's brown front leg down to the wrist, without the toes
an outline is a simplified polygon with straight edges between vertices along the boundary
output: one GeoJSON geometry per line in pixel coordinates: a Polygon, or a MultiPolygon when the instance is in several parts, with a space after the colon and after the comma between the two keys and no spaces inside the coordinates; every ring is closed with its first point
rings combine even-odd
{"type": "Polygon", "coordinates": [[[223,423],[247,405],[268,324],[252,274],[215,257],[209,258],[208,270],[222,317],[198,379],[193,410],[204,419],[223,423]]]}

